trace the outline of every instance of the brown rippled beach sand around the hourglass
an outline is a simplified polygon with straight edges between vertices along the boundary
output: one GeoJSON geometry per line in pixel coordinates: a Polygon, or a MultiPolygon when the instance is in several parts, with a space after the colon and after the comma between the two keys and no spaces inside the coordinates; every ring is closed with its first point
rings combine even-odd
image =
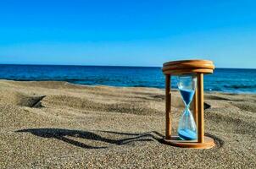
{"type": "Polygon", "coordinates": [[[256,168],[256,95],[205,94],[209,150],[162,143],[164,103],[153,88],[1,80],[0,168],[256,168]]]}

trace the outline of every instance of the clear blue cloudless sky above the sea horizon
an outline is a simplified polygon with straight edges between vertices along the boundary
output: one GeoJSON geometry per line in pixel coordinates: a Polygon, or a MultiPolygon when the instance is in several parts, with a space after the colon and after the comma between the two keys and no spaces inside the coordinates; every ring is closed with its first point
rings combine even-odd
{"type": "Polygon", "coordinates": [[[256,68],[256,1],[0,1],[0,63],[256,68]]]}

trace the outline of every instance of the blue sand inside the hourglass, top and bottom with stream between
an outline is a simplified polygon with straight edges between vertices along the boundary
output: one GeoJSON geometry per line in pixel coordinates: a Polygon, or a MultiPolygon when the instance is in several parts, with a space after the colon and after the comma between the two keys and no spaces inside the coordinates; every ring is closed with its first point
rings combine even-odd
{"type": "Polygon", "coordinates": [[[191,114],[191,112],[189,112],[188,106],[189,106],[190,102],[192,101],[195,91],[194,90],[182,90],[182,89],[180,89],[180,91],[181,91],[183,101],[186,104],[186,110],[183,114],[186,124],[185,124],[185,128],[180,128],[178,130],[178,134],[181,139],[194,140],[194,139],[197,139],[197,132],[195,130],[190,129],[187,125],[188,125],[188,121],[193,120],[193,118],[192,119],[190,118],[190,116],[192,116],[192,114],[191,114]]]}

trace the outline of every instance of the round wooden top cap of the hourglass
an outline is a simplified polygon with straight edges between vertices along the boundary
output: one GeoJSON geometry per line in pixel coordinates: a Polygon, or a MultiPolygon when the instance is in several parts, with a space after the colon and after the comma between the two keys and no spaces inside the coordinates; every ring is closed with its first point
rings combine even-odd
{"type": "Polygon", "coordinates": [[[164,63],[164,74],[212,74],[214,63],[209,60],[181,60],[164,63]]]}

